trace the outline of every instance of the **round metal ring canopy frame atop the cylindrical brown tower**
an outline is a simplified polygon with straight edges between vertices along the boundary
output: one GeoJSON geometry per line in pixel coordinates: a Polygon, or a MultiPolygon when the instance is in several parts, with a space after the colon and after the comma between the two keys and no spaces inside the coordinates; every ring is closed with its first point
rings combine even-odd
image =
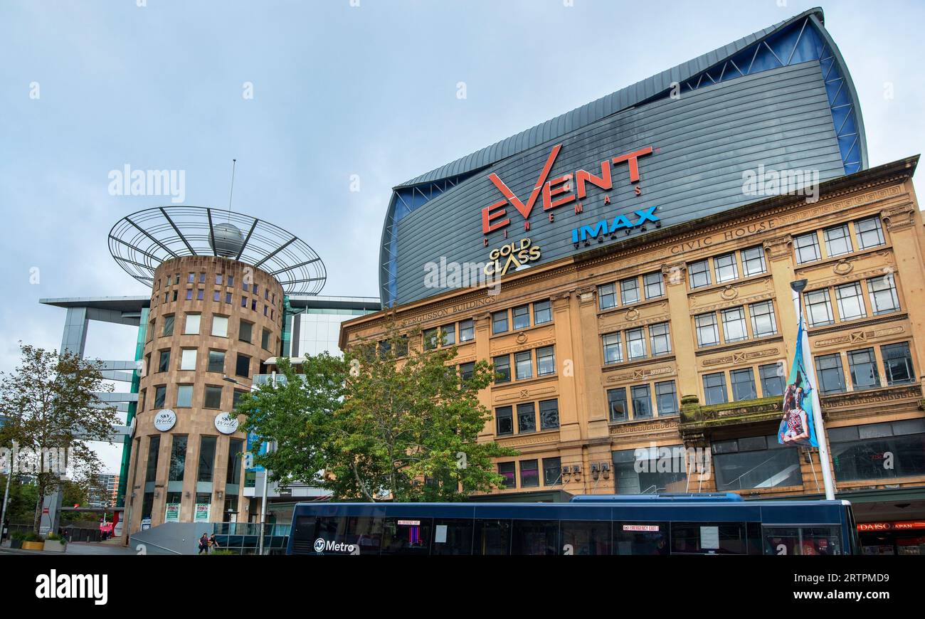
{"type": "Polygon", "coordinates": [[[209,206],[154,206],[122,217],[109,230],[109,253],[148,286],[161,263],[186,255],[214,255],[261,268],[287,294],[317,294],[327,279],[325,263],[305,241],[263,219],[209,206]],[[222,223],[241,231],[234,256],[213,249],[222,223]]]}

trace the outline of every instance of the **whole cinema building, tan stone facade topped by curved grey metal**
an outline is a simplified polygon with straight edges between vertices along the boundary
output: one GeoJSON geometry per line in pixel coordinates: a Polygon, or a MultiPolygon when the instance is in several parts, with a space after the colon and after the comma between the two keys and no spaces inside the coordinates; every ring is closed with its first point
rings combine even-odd
{"type": "MultiPolygon", "coordinates": [[[[520,452],[497,463],[501,497],[818,497],[818,452],[776,439],[807,279],[837,496],[862,523],[921,520],[917,162],[868,165],[809,10],[397,185],[387,309],[343,323],[340,347],[393,313],[462,372],[493,362],[480,439],[520,452]]],[[[865,543],[915,552],[925,530],[904,536],[865,543]]]]}

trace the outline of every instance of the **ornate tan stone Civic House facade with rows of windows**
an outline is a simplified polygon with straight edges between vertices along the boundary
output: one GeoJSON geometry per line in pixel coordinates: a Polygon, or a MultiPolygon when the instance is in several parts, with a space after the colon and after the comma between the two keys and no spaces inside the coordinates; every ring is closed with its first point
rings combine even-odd
{"type": "MultiPolygon", "coordinates": [[[[502,375],[480,394],[492,412],[480,439],[520,455],[499,461],[509,482],[497,494],[808,496],[822,492],[818,452],[775,436],[796,342],[790,284],[808,279],[839,496],[870,503],[856,511],[874,520],[886,511],[878,497],[906,492],[919,508],[908,515],[920,517],[917,162],[824,182],[817,202],[773,196],[640,237],[605,235],[590,251],[510,271],[497,294],[450,290],[393,311],[425,337],[442,329],[462,371],[486,359],[502,375]]],[[[386,321],[380,312],[345,322],[341,348],[376,338],[386,321]]]]}

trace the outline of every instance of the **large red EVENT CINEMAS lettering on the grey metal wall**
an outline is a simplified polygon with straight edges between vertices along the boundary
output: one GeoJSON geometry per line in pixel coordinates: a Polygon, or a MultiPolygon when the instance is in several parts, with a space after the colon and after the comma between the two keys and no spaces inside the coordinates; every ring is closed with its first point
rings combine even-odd
{"type": "MultiPolygon", "coordinates": [[[[497,174],[492,172],[488,175],[488,180],[491,180],[492,184],[498,188],[498,191],[501,192],[501,195],[504,196],[503,200],[499,200],[494,204],[490,204],[482,209],[482,233],[487,234],[497,229],[502,229],[505,226],[508,226],[511,223],[511,218],[506,217],[508,211],[504,206],[511,204],[517,212],[524,217],[524,229],[530,229],[530,213],[533,211],[533,207],[536,204],[536,200],[539,199],[542,194],[543,198],[543,210],[550,211],[552,209],[563,206],[564,204],[575,203],[576,200],[584,200],[587,194],[587,184],[590,183],[595,187],[598,187],[602,190],[611,190],[613,189],[613,178],[611,175],[611,167],[626,162],[629,167],[629,177],[630,183],[635,183],[639,181],[639,157],[651,155],[652,147],[646,146],[645,148],[640,148],[637,151],[632,153],[627,153],[625,155],[617,155],[611,157],[610,159],[605,159],[600,162],[600,176],[595,176],[590,172],[587,172],[584,169],[579,169],[575,171],[574,174],[565,174],[561,177],[555,179],[549,179],[549,172],[552,170],[552,165],[556,161],[556,157],[561,151],[562,145],[556,144],[552,147],[552,150],[549,152],[549,157],[546,159],[546,165],[543,166],[543,169],[539,172],[539,177],[536,179],[536,184],[534,185],[533,192],[530,193],[530,196],[527,198],[526,204],[514,193],[511,191],[511,188],[499,178],[497,174]],[[547,180],[549,179],[549,180],[547,180]],[[575,182],[575,192],[572,193],[572,180],[575,182]]],[[[638,194],[638,188],[637,192],[638,194]]],[[[610,204],[610,199],[605,200],[605,204],[610,204]]],[[[581,212],[581,202],[575,203],[575,212],[581,212]]],[[[549,214],[551,220],[552,214],[549,214]]]]}

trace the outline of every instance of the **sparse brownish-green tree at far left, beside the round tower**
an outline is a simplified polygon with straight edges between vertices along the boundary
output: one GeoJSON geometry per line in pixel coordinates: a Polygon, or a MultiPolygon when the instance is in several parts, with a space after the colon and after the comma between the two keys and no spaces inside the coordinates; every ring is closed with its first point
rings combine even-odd
{"type": "Polygon", "coordinates": [[[38,533],[43,497],[60,488],[66,475],[85,491],[93,487],[101,464],[88,441],[108,441],[118,418],[96,395],[113,389],[100,372],[102,362],[21,343],[19,349],[19,367],[0,372],[0,416],[6,417],[0,446],[35,454],[37,470],[28,474],[38,489],[32,520],[38,533]]]}

